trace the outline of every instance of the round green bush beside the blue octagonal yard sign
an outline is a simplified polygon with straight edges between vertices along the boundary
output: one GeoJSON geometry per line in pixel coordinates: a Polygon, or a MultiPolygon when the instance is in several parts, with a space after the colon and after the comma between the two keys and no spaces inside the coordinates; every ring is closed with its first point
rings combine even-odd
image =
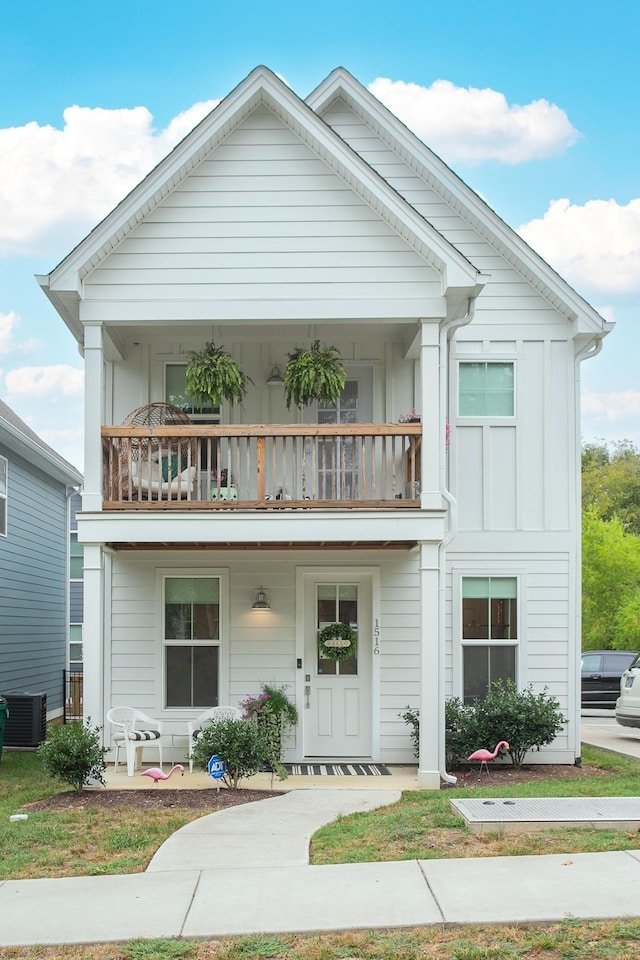
{"type": "Polygon", "coordinates": [[[193,762],[206,770],[211,757],[220,757],[227,768],[223,783],[237,790],[243,777],[252,777],[271,761],[272,750],[269,739],[254,721],[215,720],[200,731],[193,747],[193,762]]]}

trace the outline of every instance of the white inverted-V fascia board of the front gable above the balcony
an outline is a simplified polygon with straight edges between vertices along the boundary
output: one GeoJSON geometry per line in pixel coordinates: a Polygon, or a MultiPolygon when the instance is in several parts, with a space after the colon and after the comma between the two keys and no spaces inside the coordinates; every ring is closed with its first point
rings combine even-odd
{"type": "Polygon", "coordinates": [[[258,67],[222,100],[49,274],[50,294],[80,293],[84,277],[184,180],[259,103],[266,104],[351,189],[443,273],[446,286],[473,287],[478,270],[281,80],[258,67]]]}

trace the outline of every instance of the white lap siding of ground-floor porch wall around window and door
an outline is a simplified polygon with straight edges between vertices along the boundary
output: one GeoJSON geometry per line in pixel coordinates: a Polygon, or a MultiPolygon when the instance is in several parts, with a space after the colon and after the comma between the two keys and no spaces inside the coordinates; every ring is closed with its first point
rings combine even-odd
{"type": "MultiPolygon", "coordinates": [[[[412,762],[409,728],[399,718],[407,704],[419,703],[420,612],[419,573],[415,558],[380,560],[380,759],[387,762],[412,762]]],[[[184,560],[185,570],[205,572],[210,558],[191,555],[184,560]]],[[[317,562],[317,560],[316,560],[317,562]]],[[[376,558],[355,557],[353,563],[376,565],[376,558]]],[[[308,559],[303,561],[307,566],[308,559]]],[[[349,570],[349,564],[330,562],[337,573],[349,570]]],[[[321,564],[320,564],[321,565],[321,564]]],[[[138,555],[113,559],[111,645],[111,702],[135,704],[153,715],[162,711],[161,611],[156,598],[156,569],[179,569],[180,559],[168,554],[166,561],[138,555]]],[[[215,563],[211,566],[217,566],[215,563]]],[[[296,566],[290,559],[264,555],[234,558],[229,565],[229,611],[226,653],[229,686],[223,697],[237,705],[247,696],[260,692],[261,683],[286,684],[292,699],[296,697],[296,566]],[[251,612],[256,585],[264,583],[271,603],[271,614],[260,620],[251,612]]],[[[374,598],[375,600],[375,598],[374,598]]],[[[374,659],[378,659],[375,657],[374,659]]],[[[302,711],[303,705],[298,703],[302,711]]],[[[167,711],[165,725],[179,737],[186,729],[192,711],[167,711]]],[[[288,749],[295,748],[295,736],[288,749]]]]}

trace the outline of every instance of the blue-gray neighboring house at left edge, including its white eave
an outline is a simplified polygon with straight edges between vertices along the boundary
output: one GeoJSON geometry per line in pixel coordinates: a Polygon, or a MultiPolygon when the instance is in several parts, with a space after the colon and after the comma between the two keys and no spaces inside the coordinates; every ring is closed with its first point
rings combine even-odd
{"type": "Polygon", "coordinates": [[[63,713],[69,500],[82,474],[0,400],[0,694],[46,693],[63,713]]]}

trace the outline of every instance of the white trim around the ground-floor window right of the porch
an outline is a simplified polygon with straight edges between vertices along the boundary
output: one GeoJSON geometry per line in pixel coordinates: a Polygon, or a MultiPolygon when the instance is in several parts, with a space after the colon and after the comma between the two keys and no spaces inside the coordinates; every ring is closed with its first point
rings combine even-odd
{"type": "Polygon", "coordinates": [[[452,568],[452,644],[453,644],[453,677],[452,688],[453,696],[464,699],[464,647],[466,646],[509,646],[516,647],[516,670],[515,682],[518,689],[523,689],[526,680],[526,662],[527,662],[527,636],[526,636],[526,603],[527,603],[527,571],[522,567],[509,567],[499,569],[496,567],[487,567],[481,569],[452,568]],[[481,640],[463,640],[462,639],[462,582],[466,579],[482,578],[490,580],[514,580],[516,581],[516,599],[517,599],[517,633],[516,639],[508,640],[490,640],[483,638],[481,640]]]}

